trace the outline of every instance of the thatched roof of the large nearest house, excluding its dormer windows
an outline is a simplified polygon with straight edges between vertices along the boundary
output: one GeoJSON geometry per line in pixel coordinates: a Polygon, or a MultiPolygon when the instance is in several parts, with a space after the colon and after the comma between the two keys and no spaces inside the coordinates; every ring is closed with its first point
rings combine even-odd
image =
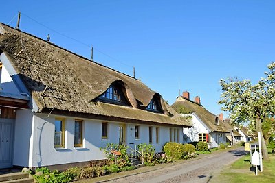
{"type": "Polygon", "coordinates": [[[129,75],[78,56],[50,42],[0,23],[0,50],[32,95],[39,112],[54,108],[156,123],[187,125],[159,93],[129,75]],[[114,82],[124,88],[130,107],[101,103],[97,99],[114,82]],[[158,99],[164,114],[144,110],[158,99]]]}

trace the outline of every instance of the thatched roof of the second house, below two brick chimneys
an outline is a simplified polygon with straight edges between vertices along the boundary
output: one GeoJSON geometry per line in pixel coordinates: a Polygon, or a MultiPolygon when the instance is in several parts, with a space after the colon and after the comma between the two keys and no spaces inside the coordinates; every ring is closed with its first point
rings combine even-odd
{"type": "Polygon", "coordinates": [[[199,117],[199,119],[201,119],[201,121],[203,121],[203,123],[211,130],[211,132],[229,132],[225,129],[223,121],[221,121],[219,117],[206,110],[206,108],[199,103],[195,103],[194,101],[179,96],[177,101],[173,103],[172,107],[179,114],[195,113],[197,117],[199,117]],[[218,125],[215,124],[216,121],[218,121],[218,125]]]}

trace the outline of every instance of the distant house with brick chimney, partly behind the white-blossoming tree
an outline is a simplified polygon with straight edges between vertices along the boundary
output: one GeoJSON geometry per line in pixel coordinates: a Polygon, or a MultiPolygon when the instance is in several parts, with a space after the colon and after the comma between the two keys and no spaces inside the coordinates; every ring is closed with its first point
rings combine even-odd
{"type": "Polygon", "coordinates": [[[224,128],[228,130],[228,134],[226,134],[226,142],[230,143],[230,145],[236,145],[241,141],[241,134],[237,132],[232,125],[230,125],[230,119],[223,119],[223,113],[219,114],[219,119],[223,121],[224,128]]]}

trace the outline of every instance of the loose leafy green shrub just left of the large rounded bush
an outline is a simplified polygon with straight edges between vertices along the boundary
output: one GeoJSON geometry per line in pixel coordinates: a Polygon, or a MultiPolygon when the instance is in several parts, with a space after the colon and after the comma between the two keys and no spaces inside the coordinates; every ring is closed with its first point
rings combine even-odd
{"type": "Polygon", "coordinates": [[[155,164],[155,148],[151,144],[141,143],[137,145],[137,148],[143,154],[144,164],[155,164]]]}

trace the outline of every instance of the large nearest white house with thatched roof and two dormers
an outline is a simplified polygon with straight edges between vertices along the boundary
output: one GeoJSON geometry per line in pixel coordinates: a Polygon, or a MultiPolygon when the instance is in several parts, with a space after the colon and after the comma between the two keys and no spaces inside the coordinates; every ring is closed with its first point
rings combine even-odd
{"type": "Polygon", "coordinates": [[[3,23],[0,34],[0,168],[84,166],[107,143],[183,143],[189,123],[140,80],[3,23]]]}

